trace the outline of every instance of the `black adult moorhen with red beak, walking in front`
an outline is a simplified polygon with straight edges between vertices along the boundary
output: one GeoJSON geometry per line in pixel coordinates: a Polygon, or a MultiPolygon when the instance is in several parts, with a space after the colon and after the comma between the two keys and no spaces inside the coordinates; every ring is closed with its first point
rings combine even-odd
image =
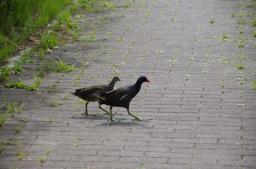
{"type": "Polygon", "coordinates": [[[139,121],[150,120],[150,119],[140,119],[139,117],[135,116],[135,114],[132,114],[129,111],[129,103],[132,101],[132,98],[134,98],[135,95],[138,94],[138,92],[140,91],[141,84],[143,84],[143,82],[150,82],[150,81],[146,76],[140,76],[135,84],[120,87],[117,90],[113,90],[109,93],[102,93],[101,95],[98,95],[99,105],[106,104],[110,106],[110,119],[108,120],[119,122],[118,119],[113,118],[113,115],[112,115],[113,106],[126,108],[128,111],[128,114],[132,117],[135,117],[134,120],[139,120],[139,121]]]}

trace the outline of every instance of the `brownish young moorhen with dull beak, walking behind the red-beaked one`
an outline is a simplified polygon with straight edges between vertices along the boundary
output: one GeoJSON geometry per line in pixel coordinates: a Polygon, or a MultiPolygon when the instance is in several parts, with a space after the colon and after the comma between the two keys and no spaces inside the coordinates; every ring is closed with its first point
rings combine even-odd
{"type": "MultiPolygon", "coordinates": [[[[73,114],[73,115],[83,115],[86,114],[88,116],[88,104],[90,102],[98,101],[99,98],[97,98],[95,95],[100,95],[102,93],[107,93],[113,90],[116,82],[120,81],[118,76],[113,77],[112,81],[110,84],[97,84],[97,85],[91,85],[89,87],[84,87],[81,89],[75,90],[75,93],[72,93],[73,95],[78,96],[78,98],[82,98],[84,101],[86,101],[86,112],[82,114],[73,114]]],[[[108,111],[103,109],[100,104],[99,104],[99,109],[102,109],[105,111],[107,114],[109,114],[108,111]]]]}

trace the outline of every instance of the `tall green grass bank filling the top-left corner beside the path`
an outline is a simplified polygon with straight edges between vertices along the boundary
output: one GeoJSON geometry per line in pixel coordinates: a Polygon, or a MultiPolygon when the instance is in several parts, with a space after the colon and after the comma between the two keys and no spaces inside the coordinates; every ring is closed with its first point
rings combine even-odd
{"type": "Polygon", "coordinates": [[[67,4],[70,4],[69,0],[3,0],[0,7],[0,65],[67,4]]]}

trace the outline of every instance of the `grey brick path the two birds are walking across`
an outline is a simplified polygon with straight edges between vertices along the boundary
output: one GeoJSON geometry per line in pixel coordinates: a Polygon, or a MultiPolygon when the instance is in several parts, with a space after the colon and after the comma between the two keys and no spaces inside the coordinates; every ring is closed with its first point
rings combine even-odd
{"type": "MultiPolygon", "coordinates": [[[[22,101],[24,107],[0,127],[5,149],[0,168],[256,168],[252,4],[255,1],[137,0],[132,7],[119,5],[98,16],[75,17],[85,29],[81,40],[54,50],[51,57],[75,56],[74,63],[87,65],[83,74],[45,75],[39,95],[1,89],[1,96],[22,101]],[[96,31],[97,41],[85,44],[90,30],[83,23],[100,25],[102,19],[105,26],[96,31]],[[239,65],[245,69],[237,69],[239,65]],[[115,108],[118,117],[127,119],[107,122],[97,103],[89,104],[89,113],[99,116],[71,118],[84,111],[84,104],[72,95],[62,97],[78,87],[105,84],[116,76],[113,69],[121,73],[116,87],[140,75],[151,79],[130,109],[154,120],[133,122],[125,109],[115,108]],[[53,85],[57,89],[48,93],[53,85]],[[54,97],[63,104],[49,106],[54,97]],[[29,122],[17,133],[14,127],[20,119],[29,122]],[[20,144],[4,144],[7,139],[20,144]],[[20,161],[18,147],[27,154],[20,161]]],[[[32,76],[23,78],[29,83],[32,76]]]]}

